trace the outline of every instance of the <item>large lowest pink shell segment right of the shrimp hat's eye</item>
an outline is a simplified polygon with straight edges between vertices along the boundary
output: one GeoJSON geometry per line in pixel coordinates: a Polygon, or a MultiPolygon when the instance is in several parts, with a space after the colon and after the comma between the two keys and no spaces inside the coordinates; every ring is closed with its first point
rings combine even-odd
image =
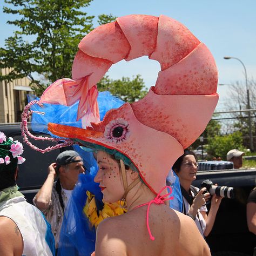
{"type": "Polygon", "coordinates": [[[151,88],[143,99],[131,105],[139,122],[170,134],[186,149],[204,131],[218,99],[217,94],[162,96],[151,88]]]}

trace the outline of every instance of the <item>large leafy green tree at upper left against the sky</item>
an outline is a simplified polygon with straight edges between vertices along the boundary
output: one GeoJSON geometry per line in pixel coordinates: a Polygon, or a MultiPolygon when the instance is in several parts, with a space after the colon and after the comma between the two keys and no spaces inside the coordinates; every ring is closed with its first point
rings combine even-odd
{"type": "MultiPolygon", "coordinates": [[[[42,92],[59,78],[71,77],[72,60],[80,40],[93,29],[93,18],[81,11],[92,0],[5,0],[3,11],[18,17],[8,24],[18,27],[0,48],[0,68],[10,68],[0,80],[29,77],[42,92]],[[40,77],[41,76],[41,77],[40,77]],[[43,77],[42,77],[43,76],[43,77]]],[[[113,21],[98,16],[98,23],[113,21]]]]}

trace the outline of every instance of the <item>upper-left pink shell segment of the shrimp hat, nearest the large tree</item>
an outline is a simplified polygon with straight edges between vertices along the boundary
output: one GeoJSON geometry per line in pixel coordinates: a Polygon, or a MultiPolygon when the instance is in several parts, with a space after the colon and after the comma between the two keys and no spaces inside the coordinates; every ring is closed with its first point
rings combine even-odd
{"type": "Polygon", "coordinates": [[[92,30],[82,39],[78,48],[92,57],[117,63],[128,55],[130,44],[118,23],[111,22],[92,30]]]}

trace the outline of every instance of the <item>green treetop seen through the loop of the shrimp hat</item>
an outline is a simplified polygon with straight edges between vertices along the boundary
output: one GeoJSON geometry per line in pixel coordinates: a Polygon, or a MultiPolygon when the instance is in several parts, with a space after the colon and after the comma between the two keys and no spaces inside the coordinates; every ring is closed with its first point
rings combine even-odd
{"type": "Polygon", "coordinates": [[[142,99],[148,90],[145,89],[143,78],[140,75],[130,79],[123,77],[122,79],[113,80],[109,76],[105,76],[97,84],[99,91],[110,91],[112,95],[116,95],[125,102],[135,102],[142,99]]]}

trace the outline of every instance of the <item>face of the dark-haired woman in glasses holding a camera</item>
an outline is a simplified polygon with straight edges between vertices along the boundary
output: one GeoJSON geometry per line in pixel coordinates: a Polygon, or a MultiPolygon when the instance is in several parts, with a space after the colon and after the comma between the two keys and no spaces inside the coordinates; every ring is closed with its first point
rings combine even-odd
{"type": "Polygon", "coordinates": [[[187,154],[180,165],[180,171],[177,173],[180,180],[193,181],[197,175],[197,161],[192,154],[187,154]]]}

